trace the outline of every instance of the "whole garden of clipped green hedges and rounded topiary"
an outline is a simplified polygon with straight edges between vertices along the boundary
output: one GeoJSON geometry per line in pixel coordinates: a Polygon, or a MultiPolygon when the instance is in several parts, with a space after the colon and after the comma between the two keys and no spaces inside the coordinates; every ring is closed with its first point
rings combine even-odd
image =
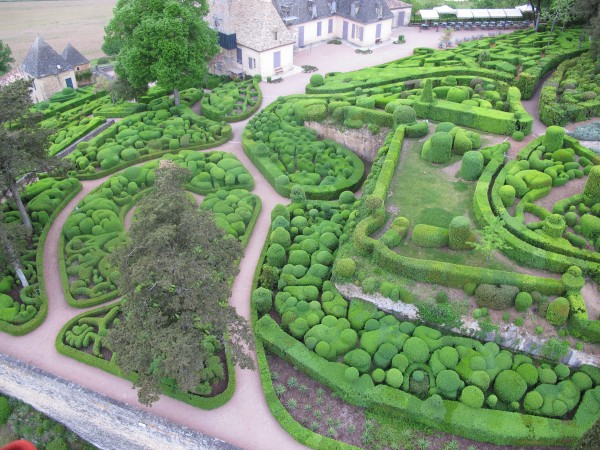
{"type": "MultiPolygon", "coordinates": [[[[61,93],[38,106],[45,126],[57,129],[52,154],[106,118],[119,120],[66,157],[71,178],[25,189],[37,243],[23,259],[32,286],[19,296],[14,274],[2,274],[0,329],[22,334],[43,320],[45,233],[78,179],[103,182],[61,233],[61,281],[73,306],[119,296],[110,255],[127,242],[125,218],[152,189],[160,160],[190,171],[186,189],[205,196],[199,208],[245,247],[261,199],[248,170],[216,147],[233,135],[228,122],[253,116],[243,151],[291,201],[270,212],[250,299],[263,388],[282,426],[313,448],[350,448],[294,420],[267,350],[367,411],[494,444],[575,443],[600,417],[600,369],[560,361],[569,345],[597,353],[600,343],[595,299],[583,295],[586,283],[600,281],[600,157],[556,126],[518,142],[534,125],[523,100],[554,69],[542,120],[598,115],[597,75],[579,35],[549,41],[546,32],[516,31],[444,51],[418,48],[380,66],[314,74],[306,94],[260,112],[258,79],[212,78],[208,92],[180,92],[177,107],[160,87],[137,103],[61,93]],[[322,137],[340,134],[373,138],[377,148],[359,157],[322,137]],[[508,342],[500,320],[540,345],[508,342]]],[[[19,220],[2,207],[5,222],[19,220]]],[[[121,376],[105,339],[123,320],[120,305],[74,317],[58,350],[121,376]]],[[[221,339],[205,370],[194,392],[168,380],[164,392],[222,405],[235,380],[221,339]]]]}

